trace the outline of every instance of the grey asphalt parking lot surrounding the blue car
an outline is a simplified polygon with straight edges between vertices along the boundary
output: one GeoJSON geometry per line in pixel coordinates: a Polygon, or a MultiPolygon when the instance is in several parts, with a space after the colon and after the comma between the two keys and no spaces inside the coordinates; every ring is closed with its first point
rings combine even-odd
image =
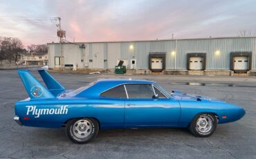
{"type": "Polygon", "coordinates": [[[99,78],[152,79],[167,91],[238,104],[246,116],[219,124],[210,138],[196,138],[186,129],[118,129],[102,130],[88,144],[73,144],[64,129],[20,127],[12,120],[15,101],[28,96],[16,71],[0,71],[0,158],[256,158],[256,77],[51,74],[66,88],[99,78]]]}

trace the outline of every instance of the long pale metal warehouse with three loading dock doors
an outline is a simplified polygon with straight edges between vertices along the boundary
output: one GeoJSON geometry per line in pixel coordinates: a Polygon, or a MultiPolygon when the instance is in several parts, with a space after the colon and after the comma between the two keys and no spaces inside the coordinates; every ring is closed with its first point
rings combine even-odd
{"type": "Polygon", "coordinates": [[[48,60],[78,71],[114,71],[122,60],[136,74],[255,75],[256,37],[49,43],[48,60]]]}

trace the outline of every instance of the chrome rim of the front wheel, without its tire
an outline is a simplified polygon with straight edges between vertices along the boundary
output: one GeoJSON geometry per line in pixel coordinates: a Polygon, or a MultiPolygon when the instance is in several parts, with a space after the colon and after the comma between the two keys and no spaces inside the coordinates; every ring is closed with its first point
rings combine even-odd
{"type": "Polygon", "coordinates": [[[208,133],[212,129],[212,118],[208,115],[201,115],[196,120],[196,127],[201,133],[208,133]]]}

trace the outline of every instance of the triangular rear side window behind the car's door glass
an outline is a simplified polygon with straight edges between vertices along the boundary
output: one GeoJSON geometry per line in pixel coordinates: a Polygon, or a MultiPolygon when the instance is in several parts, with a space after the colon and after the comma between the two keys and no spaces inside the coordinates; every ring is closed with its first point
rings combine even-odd
{"type": "Polygon", "coordinates": [[[125,86],[120,85],[100,93],[100,97],[127,98],[125,86]]]}

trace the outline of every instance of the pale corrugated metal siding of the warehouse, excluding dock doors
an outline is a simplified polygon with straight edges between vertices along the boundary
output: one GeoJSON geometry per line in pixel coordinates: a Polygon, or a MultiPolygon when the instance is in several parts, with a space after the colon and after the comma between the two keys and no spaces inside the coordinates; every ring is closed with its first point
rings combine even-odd
{"type": "MultiPolygon", "coordinates": [[[[107,59],[105,67],[114,68],[117,59],[136,59],[137,69],[148,69],[149,53],[166,53],[166,69],[175,68],[175,40],[166,41],[134,41],[134,42],[106,42],[86,44],[86,57],[93,59],[89,62],[89,68],[104,68],[104,59],[107,59]],[[129,46],[134,49],[130,50],[129,46]],[[97,54],[97,55],[95,55],[97,54]]],[[[50,66],[54,67],[54,57],[60,56],[60,44],[49,44],[50,66]]],[[[187,69],[187,53],[206,53],[207,70],[230,70],[230,52],[252,51],[252,70],[256,69],[256,38],[219,38],[219,39],[181,39],[177,40],[176,69],[187,69]],[[220,55],[214,53],[219,50],[220,55]]],[[[82,68],[80,48],[73,44],[64,44],[65,64],[78,64],[82,68]],[[81,63],[81,64],[80,64],[81,63]]],[[[88,61],[89,61],[88,59],[88,61]]]]}

